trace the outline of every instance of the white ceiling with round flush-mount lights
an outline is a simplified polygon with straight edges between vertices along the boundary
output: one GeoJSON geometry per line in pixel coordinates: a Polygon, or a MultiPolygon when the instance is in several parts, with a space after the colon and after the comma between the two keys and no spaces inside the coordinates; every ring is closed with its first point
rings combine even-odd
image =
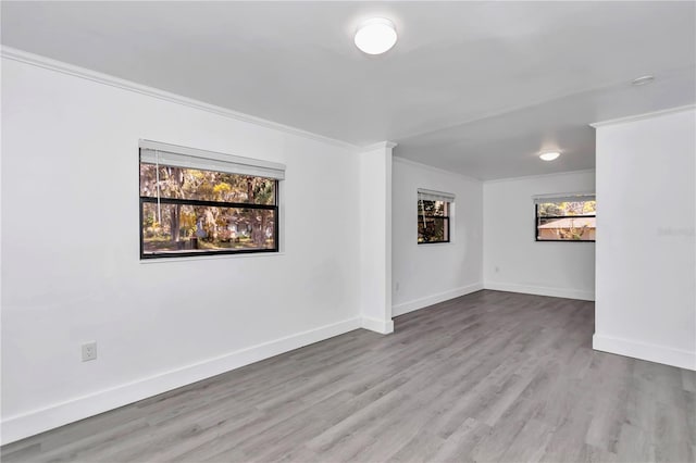
{"type": "Polygon", "coordinates": [[[593,168],[588,123],[696,101],[691,1],[3,1],[2,43],[482,179],[593,168]]]}

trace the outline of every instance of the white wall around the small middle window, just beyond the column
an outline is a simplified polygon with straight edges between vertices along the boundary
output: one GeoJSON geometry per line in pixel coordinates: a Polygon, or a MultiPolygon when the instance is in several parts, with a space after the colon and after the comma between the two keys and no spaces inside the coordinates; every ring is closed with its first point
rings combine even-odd
{"type": "Polygon", "coordinates": [[[482,289],[482,184],[394,158],[393,313],[400,315],[482,289]],[[456,195],[451,242],[418,245],[418,188],[456,195]]]}

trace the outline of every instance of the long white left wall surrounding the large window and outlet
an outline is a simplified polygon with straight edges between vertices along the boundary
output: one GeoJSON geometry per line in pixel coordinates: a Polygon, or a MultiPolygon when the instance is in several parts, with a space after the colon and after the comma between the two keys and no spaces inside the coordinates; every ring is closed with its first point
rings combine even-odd
{"type": "Polygon", "coordinates": [[[355,152],[2,64],[4,442],[360,326],[355,152]],[[283,252],[140,262],[140,138],[285,163],[283,252]]]}

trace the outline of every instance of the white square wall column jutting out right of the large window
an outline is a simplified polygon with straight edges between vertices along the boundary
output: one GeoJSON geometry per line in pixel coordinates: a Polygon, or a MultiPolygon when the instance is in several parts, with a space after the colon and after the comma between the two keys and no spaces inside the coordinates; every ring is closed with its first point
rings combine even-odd
{"type": "Polygon", "coordinates": [[[388,334],[391,322],[390,141],[360,152],[360,312],[363,328],[388,334]]]}

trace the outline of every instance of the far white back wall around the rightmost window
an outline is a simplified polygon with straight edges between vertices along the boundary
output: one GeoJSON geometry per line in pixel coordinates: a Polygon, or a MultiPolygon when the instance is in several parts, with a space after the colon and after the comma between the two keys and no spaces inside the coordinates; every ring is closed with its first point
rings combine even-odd
{"type": "Polygon", "coordinates": [[[535,241],[532,200],[535,195],[594,189],[594,172],[486,182],[483,187],[484,286],[594,300],[595,243],[535,241]]]}

